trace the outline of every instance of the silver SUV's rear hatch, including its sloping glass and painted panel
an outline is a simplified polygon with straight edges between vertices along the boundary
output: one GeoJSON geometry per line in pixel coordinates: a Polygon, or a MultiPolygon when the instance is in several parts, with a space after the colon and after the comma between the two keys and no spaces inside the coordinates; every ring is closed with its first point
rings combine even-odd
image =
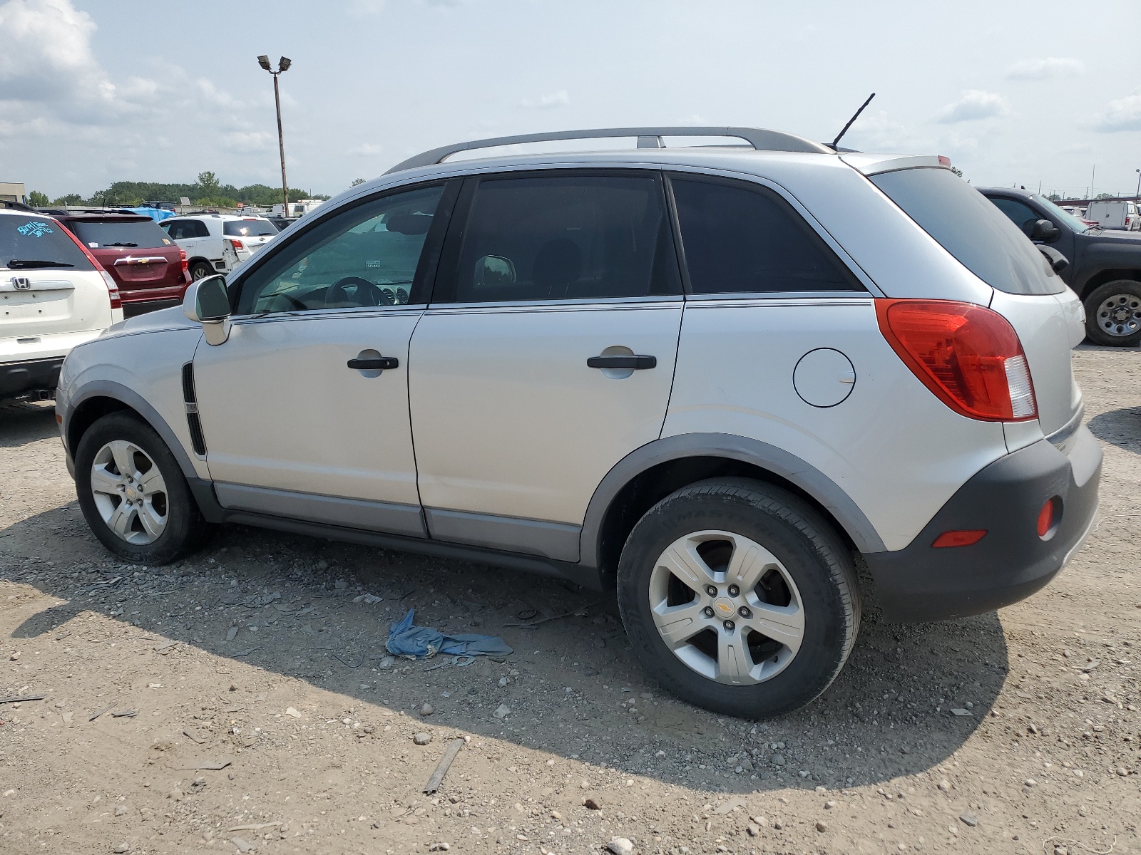
{"type": "MultiPolygon", "coordinates": [[[[1084,337],[1081,304],[1037,247],[981,193],[944,166],[876,171],[871,181],[994,288],[990,308],[1018,333],[1046,435],[1081,410],[1070,349],[1084,337]]],[[[932,293],[933,299],[939,294],[932,293]]]]}

